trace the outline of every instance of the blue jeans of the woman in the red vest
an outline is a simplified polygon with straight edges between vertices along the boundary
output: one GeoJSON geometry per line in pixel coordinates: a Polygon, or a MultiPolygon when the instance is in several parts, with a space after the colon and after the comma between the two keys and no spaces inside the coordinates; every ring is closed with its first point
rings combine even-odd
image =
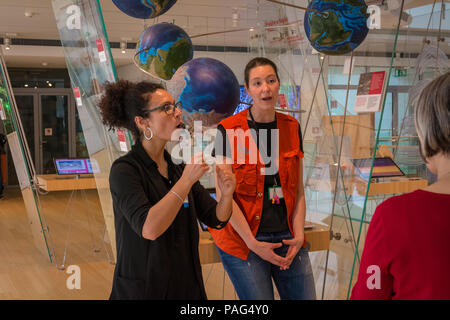
{"type": "MultiPolygon", "coordinates": [[[[291,233],[261,233],[256,240],[279,243],[283,239],[292,239],[291,233]]],[[[286,256],[289,246],[275,249],[275,253],[286,256]]],[[[272,279],[282,300],[315,300],[316,288],[309,260],[308,249],[301,248],[289,269],[280,270],[250,251],[247,260],[232,256],[220,248],[220,258],[231,282],[241,300],[273,300],[272,279]]]]}

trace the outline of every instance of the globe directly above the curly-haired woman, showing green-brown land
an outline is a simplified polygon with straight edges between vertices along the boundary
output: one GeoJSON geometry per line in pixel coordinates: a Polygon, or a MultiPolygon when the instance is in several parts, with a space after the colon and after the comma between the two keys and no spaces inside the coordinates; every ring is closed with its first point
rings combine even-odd
{"type": "Polygon", "coordinates": [[[148,27],[136,46],[135,63],[146,73],[169,80],[193,57],[192,42],[180,27],[163,22],[148,27]]]}

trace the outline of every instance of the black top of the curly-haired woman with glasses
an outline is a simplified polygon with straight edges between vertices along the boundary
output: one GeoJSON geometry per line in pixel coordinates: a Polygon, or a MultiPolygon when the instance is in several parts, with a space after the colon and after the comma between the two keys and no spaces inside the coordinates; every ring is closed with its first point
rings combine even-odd
{"type": "Polygon", "coordinates": [[[206,299],[198,253],[197,218],[220,229],[217,202],[199,182],[170,227],[156,240],[142,237],[149,209],[178,181],[183,165],[168,152],[169,179],[158,171],[141,143],[117,159],[109,177],[114,208],[117,264],[110,299],[206,299]]]}

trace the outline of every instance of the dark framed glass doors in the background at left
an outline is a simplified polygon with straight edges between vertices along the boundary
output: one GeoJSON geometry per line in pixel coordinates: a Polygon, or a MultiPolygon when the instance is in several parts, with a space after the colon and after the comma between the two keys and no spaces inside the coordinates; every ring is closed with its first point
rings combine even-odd
{"type": "MultiPolygon", "coordinates": [[[[55,158],[87,154],[70,89],[17,88],[14,96],[37,174],[56,173],[55,158]]],[[[8,184],[15,185],[14,166],[8,163],[8,184]]]]}

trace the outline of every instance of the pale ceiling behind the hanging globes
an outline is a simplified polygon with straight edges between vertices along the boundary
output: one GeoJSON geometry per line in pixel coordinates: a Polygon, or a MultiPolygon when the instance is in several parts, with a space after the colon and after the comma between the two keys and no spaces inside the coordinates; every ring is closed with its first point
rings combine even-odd
{"type": "MultiPolygon", "coordinates": [[[[284,0],[296,5],[305,5],[305,0],[284,0]]],[[[381,3],[382,0],[368,0],[367,3],[381,3]]],[[[396,1],[396,0],[390,0],[396,1]]],[[[404,9],[421,7],[433,3],[434,0],[405,0],[404,9]]],[[[438,1],[440,2],[440,1],[438,1]]],[[[13,39],[45,39],[58,40],[55,17],[51,0],[0,0],[0,37],[9,36],[13,39]]],[[[178,0],[164,15],[151,20],[139,20],[122,13],[111,0],[100,0],[105,26],[110,42],[136,42],[141,32],[158,22],[174,22],[191,35],[214,33],[256,27],[261,17],[278,14],[281,6],[264,0],[178,0]],[[239,16],[233,23],[233,14],[239,16]]],[[[292,9],[295,10],[295,9],[292,9]]],[[[447,10],[448,11],[448,10],[447,10]]],[[[299,15],[298,15],[299,16],[299,15]]],[[[301,14],[303,17],[303,14],[301,14]]],[[[382,11],[382,30],[369,33],[361,50],[389,51],[392,50],[392,30],[397,23],[397,16],[389,11],[382,11]]],[[[448,20],[450,18],[447,17],[448,20]]],[[[406,23],[403,23],[405,25],[406,23]]],[[[446,30],[443,35],[448,35],[446,30]]],[[[414,38],[414,32],[409,31],[409,41],[416,41],[419,47],[423,36],[414,38]]],[[[194,45],[208,46],[238,46],[247,47],[250,32],[230,32],[218,35],[194,37],[194,45]]],[[[448,38],[446,39],[448,42],[448,38]]],[[[400,39],[400,41],[402,41],[400,39]]],[[[401,45],[401,43],[399,43],[401,45]]],[[[448,48],[448,45],[446,46],[448,48]]],[[[411,49],[413,50],[413,49],[411,49]]],[[[414,49],[415,50],[415,49],[414,49]]],[[[446,49],[447,50],[447,49],[446,49]]],[[[3,51],[8,66],[64,67],[65,60],[61,47],[15,45],[12,50],[3,51]]],[[[121,54],[119,49],[113,49],[117,65],[132,61],[133,50],[121,54]]]]}

